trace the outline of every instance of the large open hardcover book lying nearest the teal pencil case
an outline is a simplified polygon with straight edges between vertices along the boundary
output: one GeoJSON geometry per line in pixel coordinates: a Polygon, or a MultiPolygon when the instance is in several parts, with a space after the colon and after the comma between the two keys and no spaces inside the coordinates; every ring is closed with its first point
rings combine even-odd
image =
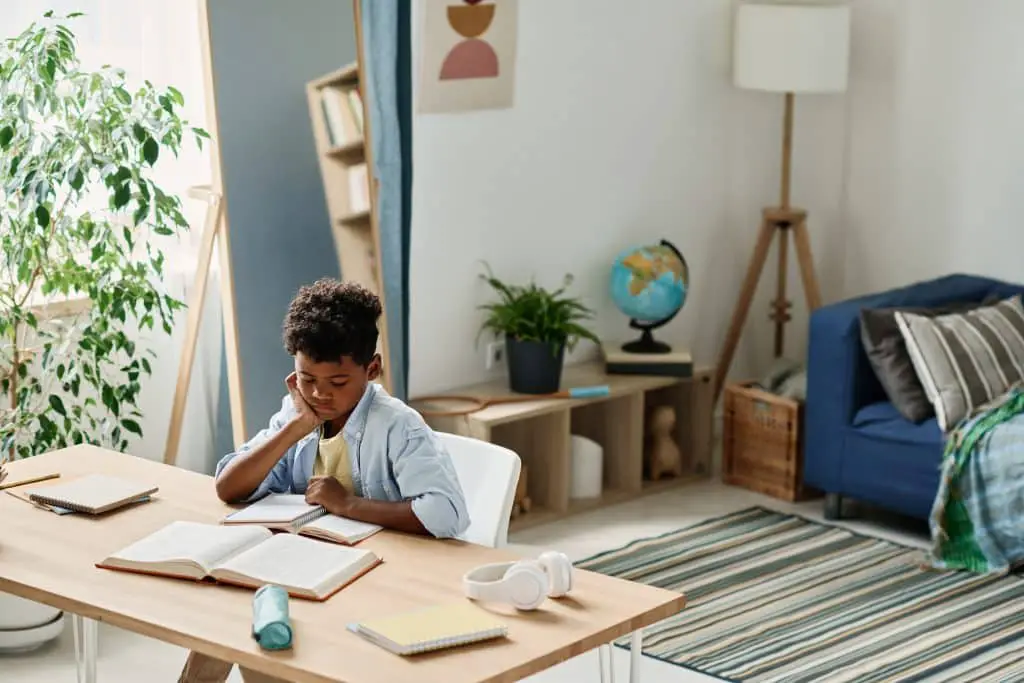
{"type": "Polygon", "coordinates": [[[251,589],[274,584],[292,597],[327,600],[380,561],[369,550],[274,535],[262,526],[176,521],[97,566],[251,589]]]}

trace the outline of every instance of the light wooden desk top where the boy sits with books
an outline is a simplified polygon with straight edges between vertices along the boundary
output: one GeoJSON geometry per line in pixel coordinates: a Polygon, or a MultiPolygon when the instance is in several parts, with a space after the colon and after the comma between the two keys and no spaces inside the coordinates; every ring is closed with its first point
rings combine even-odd
{"type": "MultiPolygon", "coordinates": [[[[0,494],[0,590],[297,682],[517,681],[638,631],[683,608],[678,593],[577,570],[569,598],[502,613],[509,638],[402,658],[345,629],[372,616],[460,600],[462,575],[507,552],[454,541],[379,533],[384,558],[325,603],[292,600],[295,647],[268,654],[250,635],[252,592],[95,568],[108,554],[173,520],[216,522],[227,508],[210,477],[91,446],[9,465],[15,480],[100,472],[153,483],[153,502],[103,518],[57,516],[0,494]]],[[[141,672],[140,672],[141,673],[141,672]]]]}

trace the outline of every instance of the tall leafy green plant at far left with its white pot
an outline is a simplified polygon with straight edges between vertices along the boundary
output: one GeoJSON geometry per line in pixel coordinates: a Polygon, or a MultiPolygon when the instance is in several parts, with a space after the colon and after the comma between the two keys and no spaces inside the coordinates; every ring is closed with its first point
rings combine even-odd
{"type": "MultiPolygon", "coordinates": [[[[79,13],[69,14],[73,19],[79,13]]],[[[181,94],[82,70],[47,12],[0,41],[0,461],[141,435],[140,382],[182,304],[160,288],[162,239],[187,229],[153,180],[185,135],[181,94]],[[83,305],[84,302],[84,305],[83,305]],[[55,310],[56,309],[56,310],[55,310]]],[[[0,594],[0,648],[59,634],[59,611],[0,594]]]]}

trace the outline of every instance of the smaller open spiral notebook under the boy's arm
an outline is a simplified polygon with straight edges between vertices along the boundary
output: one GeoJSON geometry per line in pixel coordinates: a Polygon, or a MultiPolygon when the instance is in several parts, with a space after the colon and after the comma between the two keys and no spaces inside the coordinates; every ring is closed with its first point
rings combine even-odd
{"type": "Polygon", "coordinates": [[[306,503],[305,497],[293,494],[271,494],[227,515],[223,523],[258,524],[346,546],[354,545],[381,530],[377,524],[328,514],[321,506],[306,503]]]}

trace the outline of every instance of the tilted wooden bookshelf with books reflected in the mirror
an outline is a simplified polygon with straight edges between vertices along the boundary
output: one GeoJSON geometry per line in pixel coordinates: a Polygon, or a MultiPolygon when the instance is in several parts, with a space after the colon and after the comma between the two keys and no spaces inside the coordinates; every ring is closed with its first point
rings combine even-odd
{"type": "MultiPolygon", "coordinates": [[[[358,7],[356,6],[358,9],[358,7]]],[[[358,24],[358,22],[356,22],[358,24]]],[[[361,36],[359,39],[361,53],[361,36]]],[[[327,200],[331,232],[338,251],[341,276],[367,287],[384,301],[384,283],[381,280],[380,232],[377,219],[377,183],[367,170],[373,168],[373,155],[367,140],[370,137],[370,120],[362,97],[360,65],[353,63],[327,74],[306,84],[309,117],[312,121],[316,156],[327,200]],[[355,114],[349,94],[359,93],[361,117],[355,114]],[[327,114],[326,99],[334,105],[334,126],[327,114]],[[332,129],[334,134],[332,134],[332,129]],[[339,139],[342,137],[343,139],[339,139]],[[362,169],[362,170],[359,170],[362,169]],[[353,201],[351,182],[353,173],[365,174],[367,202],[353,201]]],[[[381,316],[378,352],[384,358],[381,383],[391,389],[388,381],[387,318],[381,316]]]]}

